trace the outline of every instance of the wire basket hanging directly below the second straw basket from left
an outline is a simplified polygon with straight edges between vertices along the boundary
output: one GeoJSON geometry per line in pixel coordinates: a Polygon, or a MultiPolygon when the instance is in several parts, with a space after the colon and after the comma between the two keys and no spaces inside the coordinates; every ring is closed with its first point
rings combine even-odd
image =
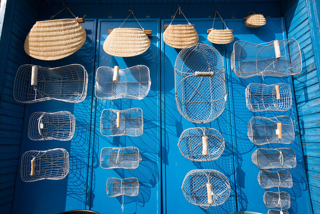
{"type": "Polygon", "coordinates": [[[136,65],[126,69],[99,67],[96,73],[95,95],[100,99],[137,99],[148,95],[151,86],[149,68],[136,65]]]}

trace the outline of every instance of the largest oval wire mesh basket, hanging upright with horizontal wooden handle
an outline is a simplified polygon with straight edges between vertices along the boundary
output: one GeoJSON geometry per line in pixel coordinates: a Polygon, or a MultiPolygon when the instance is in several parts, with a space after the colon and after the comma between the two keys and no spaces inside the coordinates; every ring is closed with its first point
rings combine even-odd
{"type": "Polygon", "coordinates": [[[182,49],[174,67],[175,99],[180,114],[195,123],[216,119],[227,101],[224,64],[210,45],[182,49]]]}

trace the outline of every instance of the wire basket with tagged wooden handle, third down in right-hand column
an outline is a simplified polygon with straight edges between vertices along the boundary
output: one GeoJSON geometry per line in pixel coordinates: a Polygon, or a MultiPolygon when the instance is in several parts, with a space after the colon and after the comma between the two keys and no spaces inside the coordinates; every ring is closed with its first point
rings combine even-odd
{"type": "Polygon", "coordinates": [[[248,137],[256,145],[291,144],[294,135],[294,125],[289,116],[253,117],[248,123],[248,137]]]}

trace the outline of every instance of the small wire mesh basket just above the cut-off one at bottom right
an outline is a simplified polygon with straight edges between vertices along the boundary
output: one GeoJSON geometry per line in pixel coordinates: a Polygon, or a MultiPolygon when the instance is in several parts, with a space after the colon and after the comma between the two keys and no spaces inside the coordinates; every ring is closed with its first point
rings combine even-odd
{"type": "Polygon", "coordinates": [[[271,192],[267,191],[263,195],[263,202],[268,208],[278,207],[281,209],[290,208],[290,195],[287,192],[271,192]]]}

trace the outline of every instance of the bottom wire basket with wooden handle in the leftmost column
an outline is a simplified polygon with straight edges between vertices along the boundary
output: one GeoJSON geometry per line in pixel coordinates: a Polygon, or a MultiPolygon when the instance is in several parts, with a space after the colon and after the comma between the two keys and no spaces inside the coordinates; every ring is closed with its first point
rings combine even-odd
{"type": "Polygon", "coordinates": [[[28,151],[21,158],[21,179],[26,182],[59,180],[69,173],[69,153],[65,149],[28,151]]]}

